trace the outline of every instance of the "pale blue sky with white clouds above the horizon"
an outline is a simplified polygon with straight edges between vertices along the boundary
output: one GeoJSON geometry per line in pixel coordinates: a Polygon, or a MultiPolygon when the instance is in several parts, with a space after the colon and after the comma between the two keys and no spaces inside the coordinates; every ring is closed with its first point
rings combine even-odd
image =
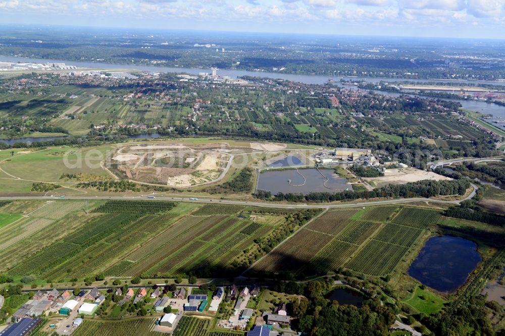
{"type": "Polygon", "coordinates": [[[0,0],[0,22],[505,38],[505,0],[0,0]]]}

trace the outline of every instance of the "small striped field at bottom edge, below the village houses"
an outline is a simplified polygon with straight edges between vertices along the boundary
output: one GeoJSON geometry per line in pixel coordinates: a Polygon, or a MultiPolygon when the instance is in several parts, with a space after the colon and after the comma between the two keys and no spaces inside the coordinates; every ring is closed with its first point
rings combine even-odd
{"type": "Polygon", "coordinates": [[[75,336],[162,336],[154,331],[156,318],[134,318],[124,321],[84,320],[72,334],[75,336]]]}

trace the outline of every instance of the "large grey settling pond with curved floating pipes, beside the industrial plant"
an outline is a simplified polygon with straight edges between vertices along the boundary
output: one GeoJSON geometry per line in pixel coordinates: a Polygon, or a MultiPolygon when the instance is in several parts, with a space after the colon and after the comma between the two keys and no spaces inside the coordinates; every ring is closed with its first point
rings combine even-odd
{"type": "Polygon", "coordinates": [[[347,180],[339,178],[332,169],[289,169],[263,171],[257,189],[282,193],[336,192],[352,189],[347,180]]]}

